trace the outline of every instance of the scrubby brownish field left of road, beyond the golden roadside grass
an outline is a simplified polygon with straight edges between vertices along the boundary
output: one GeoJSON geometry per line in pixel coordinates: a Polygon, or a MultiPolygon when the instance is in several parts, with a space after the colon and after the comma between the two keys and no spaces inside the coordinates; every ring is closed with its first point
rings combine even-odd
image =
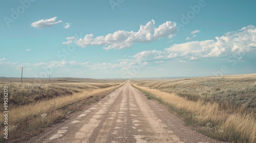
{"type": "MultiPolygon", "coordinates": [[[[70,96],[84,90],[100,89],[118,85],[119,83],[0,83],[0,86],[8,86],[9,108],[35,104],[38,101],[50,100],[56,97],[70,96]]],[[[3,92],[0,96],[3,97],[3,92]]],[[[3,98],[0,103],[3,103],[3,98]]],[[[0,104],[0,111],[3,111],[0,104]]]]}

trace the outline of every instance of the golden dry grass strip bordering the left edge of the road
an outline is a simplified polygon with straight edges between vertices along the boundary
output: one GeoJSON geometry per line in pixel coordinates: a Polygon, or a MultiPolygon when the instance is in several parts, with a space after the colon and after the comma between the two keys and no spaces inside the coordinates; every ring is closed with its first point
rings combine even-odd
{"type": "MultiPolygon", "coordinates": [[[[19,89],[26,89],[26,84],[19,89]]],[[[82,86],[70,84],[67,86],[82,86]]],[[[55,97],[47,101],[37,101],[34,104],[19,106],[18,108],[12,108],[9,110],[8,116],[8,128],[9,128],[9,140],[22,137],[27,134],[33,135],[34,133],[40,132],[40,130],[46,127],[49,124],[55,123],[59,121],[61,118],[65,117],[68,113],[70,113],[69,108],[60,109],[62,107],[66,107],[68,105],[73,106],[74,103],[77,103],[75,106],[79,106],[88,100],[98,100],[96,97],[101,98],[108,92],[113,91],[118,88],[122,84],[111,83],[106,86],[104,83],[91,83],[88,85],[87,89],[84,89],[82,92],[74,93],[71,96],[60,96],[55,97]],[[96,88],[97,87],[97,88],[96,88]]],[[[42,89],[47,91],[47,88],[52,85],[43,85],[42,89]]],[[[64,85],[61,85],[64,86],[64,85]]],[[[77,87],[76,87],[77,88],[77,87]]],[[[88,102],[87,102],[88,103],[88,102]]],[[[3,116],[3,112],[0,114],[3,116]]],[[[1,124],[1,138],[0,141],[4,141],[3,138],[3,127],[4,127],[4,118],[0,119],[1,124]]]]}

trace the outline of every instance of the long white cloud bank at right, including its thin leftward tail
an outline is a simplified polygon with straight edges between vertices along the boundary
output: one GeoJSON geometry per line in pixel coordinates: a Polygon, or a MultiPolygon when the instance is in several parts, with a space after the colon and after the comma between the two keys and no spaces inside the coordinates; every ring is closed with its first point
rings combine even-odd
{"type": "MultiPolygon", "coordinates": [[[[227,58],[238,52],[256,54],[256,28],[248,26],[238,31],[228,32],[221,37],[204,41],[191,41],[174,44],[164,50],[142,51],[132,59],[120,59],[119,63],[95,63],[90,65],[90,69],[120,68],[121,70],[136,69],[138,66],[164,65],[168,61],[177,60],[180,63],[201,60],[205,58],[227,58]]],[[[240,54],[241,56],[241,54],[240,54]]]]}

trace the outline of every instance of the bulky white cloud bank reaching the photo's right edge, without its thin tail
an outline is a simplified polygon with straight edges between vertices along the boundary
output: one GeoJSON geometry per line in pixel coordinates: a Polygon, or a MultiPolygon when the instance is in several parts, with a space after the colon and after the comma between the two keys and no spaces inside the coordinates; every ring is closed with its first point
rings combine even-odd
{"type": "MultiPolygon", "coordinates": [[[[191,41],[181,44],[174,44],[164,51],[143,51],[134,56],[138,61],[181,59],[197,60],[200,58],[222,58],[232,54],[245,55],[256,52],[256,28],[247,26],[238,31],[228,32],[214,40],[191,41]],[[240,54],[238,54],[240,53],[240,54]],[[242,54],[241,54],[242,53],[242,54]]],[[[241,59],[242,57],[239,57],[241,59]]]]}

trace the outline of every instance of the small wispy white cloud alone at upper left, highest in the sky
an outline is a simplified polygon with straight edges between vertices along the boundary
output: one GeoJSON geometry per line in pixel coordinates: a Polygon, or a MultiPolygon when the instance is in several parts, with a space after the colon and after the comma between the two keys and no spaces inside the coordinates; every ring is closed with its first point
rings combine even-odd
{"type": "Polygon", "coordinates": [[[31,26],[35,27],[35,28],[47,28],[47,27],[51,27],[53,25],[56,25],[57,23],[62,22],[61,20],[56,21],[56,19],[57,19],[57,17],[53,17],[53,18],[46,19],[46,20],[41,19],[41,20],[31,23],[31,26]]]}

